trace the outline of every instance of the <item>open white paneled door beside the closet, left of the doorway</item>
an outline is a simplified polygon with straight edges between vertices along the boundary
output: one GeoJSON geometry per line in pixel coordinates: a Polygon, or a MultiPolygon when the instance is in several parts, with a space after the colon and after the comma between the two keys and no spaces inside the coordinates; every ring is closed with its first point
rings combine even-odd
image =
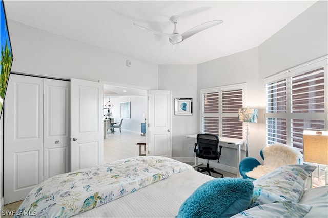
{"type": "Polygon", "coordinates": [[[103,85],[71,79],[71,171],[104,162],[103,85]]]}

